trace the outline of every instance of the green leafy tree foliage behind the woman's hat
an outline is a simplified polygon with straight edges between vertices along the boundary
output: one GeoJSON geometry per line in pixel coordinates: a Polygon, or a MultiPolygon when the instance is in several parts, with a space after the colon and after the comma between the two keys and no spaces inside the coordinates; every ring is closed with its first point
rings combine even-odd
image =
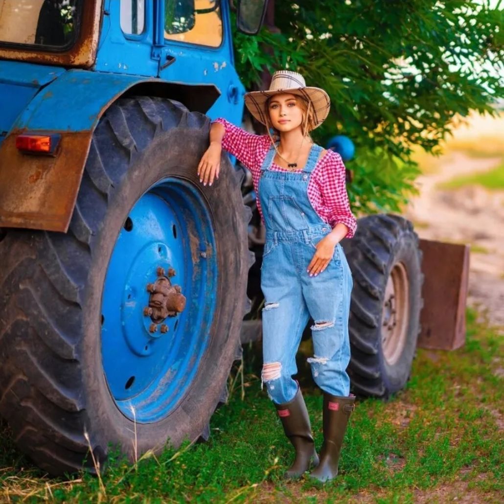
{"type": "Polygon", "coordinates": [[[314,136],[355,142],[354,209],[399,211],[416,192],[412,147],[436,153],[457,117],[495,113],[502,20],[498,5],[468,0],[277,0],[280,33],[236,33],[236,65],[248,88],[264,68],[296,70],[324,88],[331,112],[314,136]]]}

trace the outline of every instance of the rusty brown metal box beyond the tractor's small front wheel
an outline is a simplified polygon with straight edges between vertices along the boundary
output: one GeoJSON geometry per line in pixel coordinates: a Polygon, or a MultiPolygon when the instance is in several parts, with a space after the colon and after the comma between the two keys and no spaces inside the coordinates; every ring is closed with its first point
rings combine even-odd
{"type": "Polygon", "coordinates": [[[464,345],[469,245],[420,240],[423,253],[421,348],[455,350],[464,345]]]}

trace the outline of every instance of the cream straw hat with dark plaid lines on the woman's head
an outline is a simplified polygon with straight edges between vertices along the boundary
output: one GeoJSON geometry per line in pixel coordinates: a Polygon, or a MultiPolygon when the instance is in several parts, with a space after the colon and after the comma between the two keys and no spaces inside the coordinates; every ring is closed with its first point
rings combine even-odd
{"type": "Polygon", "coordinates": [[[245,94],[245,105],[250,113],[261,123],[266,125],[266,101],[270,96],[280,93],[290,93],[302,96],[306,101],[311,102],[313,110],[313,129],[320,126],[327,114],[331,101],[329,95],[320,88],[306,86],[304,78],[297,72],[289,70],[279,70],[273,74],[270,89],[267,91],[251,91],[245,94]]]}

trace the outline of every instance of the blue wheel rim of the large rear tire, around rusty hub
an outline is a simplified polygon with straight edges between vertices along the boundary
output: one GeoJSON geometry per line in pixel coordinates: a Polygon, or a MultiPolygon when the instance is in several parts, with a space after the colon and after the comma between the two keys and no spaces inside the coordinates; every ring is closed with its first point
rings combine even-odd
{"type": "Polygon", "coordinates": [[[134,205],[116,240],[102,295],[101,355],[119,410],[141,423],[166,417],[191,388],[215,313],[217,258],[208,204],[191,182],[168,177],[134,205]],[[147,285],[175,275],[184,310],[150,331],[147,285]]]}

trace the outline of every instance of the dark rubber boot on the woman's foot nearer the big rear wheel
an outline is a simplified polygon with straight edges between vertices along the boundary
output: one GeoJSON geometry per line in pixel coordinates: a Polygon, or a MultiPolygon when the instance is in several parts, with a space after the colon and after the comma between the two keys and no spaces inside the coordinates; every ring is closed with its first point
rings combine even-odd
{"type": "Polygon", "coordinates": [[[296,451],[296,458],[284,476],[290,479],[298,478],[310,468],[311,464],[317,465],[319,463],[319,457],[315,451],[315,444],[311,435],[310,419],[301,389],[297,389],[292,401],[275,404],[275,407],[282,421],[285,435],[296,451]]]}

